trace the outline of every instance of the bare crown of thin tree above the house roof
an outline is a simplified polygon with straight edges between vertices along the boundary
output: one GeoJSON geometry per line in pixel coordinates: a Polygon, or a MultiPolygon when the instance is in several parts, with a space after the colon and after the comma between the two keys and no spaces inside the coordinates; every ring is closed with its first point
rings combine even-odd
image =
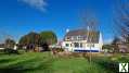
{"type": "Polygon", "coordinates": [[[98,31],[99,29],[99,20],[96,19],[96,15],[93,11],[90,10],[83,10],[81,13],[81,22],[82,25],[81,28],[88,28],[91,31],[98,31]]]}

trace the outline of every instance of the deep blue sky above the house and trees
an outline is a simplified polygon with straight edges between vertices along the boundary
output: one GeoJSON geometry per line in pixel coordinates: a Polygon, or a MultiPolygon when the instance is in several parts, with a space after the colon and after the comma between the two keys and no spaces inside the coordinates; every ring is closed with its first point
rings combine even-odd
{"type": "Polygon", "coordinates": [[[63,39],[66,29],[82,26],[82,10],[89,10],[108,42],[114,37],[113,4],[113,0],[0,0],[0,41],[5,37],[17,41],[29,32],[42,31],[53,31],[63,39]]]}

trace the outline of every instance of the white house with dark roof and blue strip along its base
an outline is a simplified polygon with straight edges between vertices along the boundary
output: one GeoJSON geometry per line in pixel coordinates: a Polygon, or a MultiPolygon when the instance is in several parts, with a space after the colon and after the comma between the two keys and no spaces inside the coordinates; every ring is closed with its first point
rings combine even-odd
{"type": "Polygon", "coordinates": [[[65,50],[77,52],[100,52],[102,46],[102,34],[100,32],[88,32],[87,29],[67,31],[62,42],[65,50]]]}

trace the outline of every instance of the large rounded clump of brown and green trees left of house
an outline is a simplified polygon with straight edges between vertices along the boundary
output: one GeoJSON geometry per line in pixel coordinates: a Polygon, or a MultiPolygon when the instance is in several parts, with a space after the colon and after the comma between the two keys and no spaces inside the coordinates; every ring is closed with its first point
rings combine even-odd
{"type": "Polygon", "coordinates": [[[30,32],[18,41],[21,48],[26,47],[27,50],[35,50],[36,47],[42,47],[44,51],[50,50],[49,46],[56,42],[57,38],[53,32],[30,32]]]}

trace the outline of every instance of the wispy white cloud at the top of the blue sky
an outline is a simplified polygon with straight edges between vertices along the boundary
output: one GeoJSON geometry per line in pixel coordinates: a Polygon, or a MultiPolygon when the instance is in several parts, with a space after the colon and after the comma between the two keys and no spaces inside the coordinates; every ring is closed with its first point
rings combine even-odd
{"type": "Polygon", "coordinates": [[[46,5],[47,3],[44,2],[44,0],[17,0],[20,2],[24,2],[33,8],[36,8],[40,11],[46,11],[46,5]]]}

